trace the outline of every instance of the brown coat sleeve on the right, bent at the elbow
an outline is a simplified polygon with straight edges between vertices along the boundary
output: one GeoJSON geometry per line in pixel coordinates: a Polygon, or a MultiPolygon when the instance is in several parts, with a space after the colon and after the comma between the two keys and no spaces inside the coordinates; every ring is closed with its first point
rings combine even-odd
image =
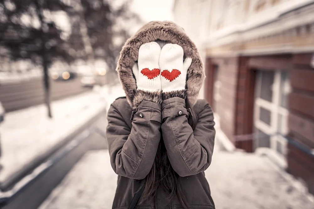
{"type": "Polygon", "coordinates": [[[207,102],[199,103],[196,128],[188,123],[185,100],[166,99],[161,104],[162,136],[172,168],[181,176],[198,174],[208,168],[214,150],[214,115],[207,102]]]}

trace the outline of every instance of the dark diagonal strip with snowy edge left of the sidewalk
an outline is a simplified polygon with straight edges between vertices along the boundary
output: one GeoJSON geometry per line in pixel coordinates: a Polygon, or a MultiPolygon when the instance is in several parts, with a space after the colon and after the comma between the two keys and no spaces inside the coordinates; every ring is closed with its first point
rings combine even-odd
{"type": "Polygon", "coordinates": [[[1,191],[0,208],[38,208],[87,151],[106,148],[106,144],[100,143],[106,135],[98,130],[104,124],[106,114],[102,113],[106,113],[106,108],[79,127],[78,133],[69,135],[63,146],[28,170],[27,175],[1,191]]]}

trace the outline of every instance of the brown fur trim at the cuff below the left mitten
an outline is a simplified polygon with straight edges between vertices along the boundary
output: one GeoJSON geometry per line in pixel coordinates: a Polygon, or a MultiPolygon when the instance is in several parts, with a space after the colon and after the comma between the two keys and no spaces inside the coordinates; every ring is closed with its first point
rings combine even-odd
{"type": "Polygon", "coordinates": [[[162,98],[161,98],[161,92],[148,92],[148,91],[143,91],[136,89],[134,91],[134,97],[133,97],[133,102],[132,102],[132,108],[135,110],[139,104],[143,100],[146,101],[152,101],[158,104],[161,104],[162,98]]]}

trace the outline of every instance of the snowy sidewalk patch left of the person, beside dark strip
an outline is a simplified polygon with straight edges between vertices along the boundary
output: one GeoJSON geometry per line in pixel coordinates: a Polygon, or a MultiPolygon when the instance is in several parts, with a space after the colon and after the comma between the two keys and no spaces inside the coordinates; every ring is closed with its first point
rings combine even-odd
{"type": "Polygon", "coordinates": [[[111,209],[117,175],[108,150],[90,151],[73,167],[39,209],[111,209]]]}

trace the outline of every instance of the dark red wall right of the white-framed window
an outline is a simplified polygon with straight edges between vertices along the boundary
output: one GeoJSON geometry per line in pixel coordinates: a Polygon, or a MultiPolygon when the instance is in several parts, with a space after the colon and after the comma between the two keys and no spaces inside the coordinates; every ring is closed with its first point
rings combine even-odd
{"type": "MultiPolygon", "coordinates": [[[[292,57],[289,135],[293,140],[314,148],[314,69],[310,67],[311,57],[312,54],[292,57]]],[[[303,178],[314,193],[314,158],[289,145],[287,160],[288,171],[303,178]]]]}

